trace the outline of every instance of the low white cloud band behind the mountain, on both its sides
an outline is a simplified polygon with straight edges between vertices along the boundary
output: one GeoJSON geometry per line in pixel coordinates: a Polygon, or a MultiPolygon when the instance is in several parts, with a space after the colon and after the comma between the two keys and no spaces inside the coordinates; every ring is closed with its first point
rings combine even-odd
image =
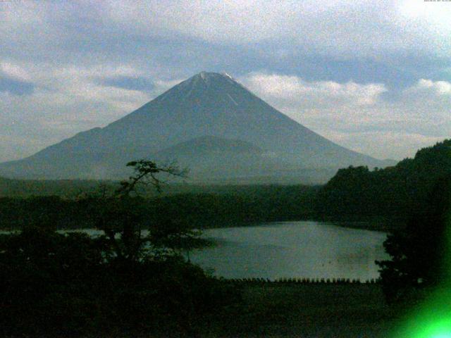
{"type": "MultiPolygon", "coordinates": [[[[4,146],[0,161],[19,158],[70,137],[104,126],[130,113],[181,81],[154,78],[151,94],[99,84],[99,76],[144,73],[130,65],[42,70],[11,66],[27,74],[35,91],[0,93],[4,146]],[[20,142],[26,137],[27,144],[20,142]],[[10,144],[9,148],[7,144],[10,144]],[[5,145],[6,144],[6,145],[5,145]],[[9,151],[8,151],[9,149],[9,151]]],[[[294,75],[254,72],[239,81],[269,104],[324,137],[379,158],[404,158],[451,134],[450,82],[418,80],[397,101],[384,101],[384,84],[309,82],[294,75]]]]}

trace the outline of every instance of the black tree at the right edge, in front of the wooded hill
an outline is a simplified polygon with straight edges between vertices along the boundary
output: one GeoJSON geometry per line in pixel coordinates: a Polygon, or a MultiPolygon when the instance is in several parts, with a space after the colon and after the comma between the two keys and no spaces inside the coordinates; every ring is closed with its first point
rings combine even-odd
{"type": "Polygon", "coordinates": [[[435,184],[428,202],[412,213],[406,229],[385,240],[390,261],[376,263],[388,301],[402,299],[412,289],[450,282],[450,211],[451,176],[446,176],[435,184]]]}

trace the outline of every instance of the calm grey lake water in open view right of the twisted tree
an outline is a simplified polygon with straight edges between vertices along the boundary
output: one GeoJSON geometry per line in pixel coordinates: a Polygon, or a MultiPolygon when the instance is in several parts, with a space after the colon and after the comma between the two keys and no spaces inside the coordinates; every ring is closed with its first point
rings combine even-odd
{"type": "Polygon", "coordinates": [[[226,278],[378,277],[386,234],[331,223],[282,222],[205,230],[216,246],[194,251],[191,261],[226,278]]]}

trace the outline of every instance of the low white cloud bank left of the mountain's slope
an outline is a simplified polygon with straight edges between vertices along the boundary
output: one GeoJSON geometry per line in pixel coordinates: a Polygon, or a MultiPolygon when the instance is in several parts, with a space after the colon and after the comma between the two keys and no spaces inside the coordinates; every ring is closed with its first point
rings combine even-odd
{"type": "Polygon", "coordinates": [[[147,75],[130,65],[1,66],[9,75],[26,74],[35,90],[26,96],[0,92],[0,161],[29,156],[77,132],[107,125],[180,82],[152,79],[153,91],[144,93],[99,83],[99,77],[147,75]]]}

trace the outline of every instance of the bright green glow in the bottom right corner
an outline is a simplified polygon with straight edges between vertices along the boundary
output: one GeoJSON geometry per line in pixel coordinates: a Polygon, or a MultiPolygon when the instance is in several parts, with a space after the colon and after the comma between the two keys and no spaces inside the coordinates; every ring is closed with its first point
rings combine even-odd
{"type": "Polygon", "coordinates": [[[451,222],[447,217],[446,253],[443,269],[447,278],[431,296],[412,312],[395,338],[451,338],[451,222]]]}

